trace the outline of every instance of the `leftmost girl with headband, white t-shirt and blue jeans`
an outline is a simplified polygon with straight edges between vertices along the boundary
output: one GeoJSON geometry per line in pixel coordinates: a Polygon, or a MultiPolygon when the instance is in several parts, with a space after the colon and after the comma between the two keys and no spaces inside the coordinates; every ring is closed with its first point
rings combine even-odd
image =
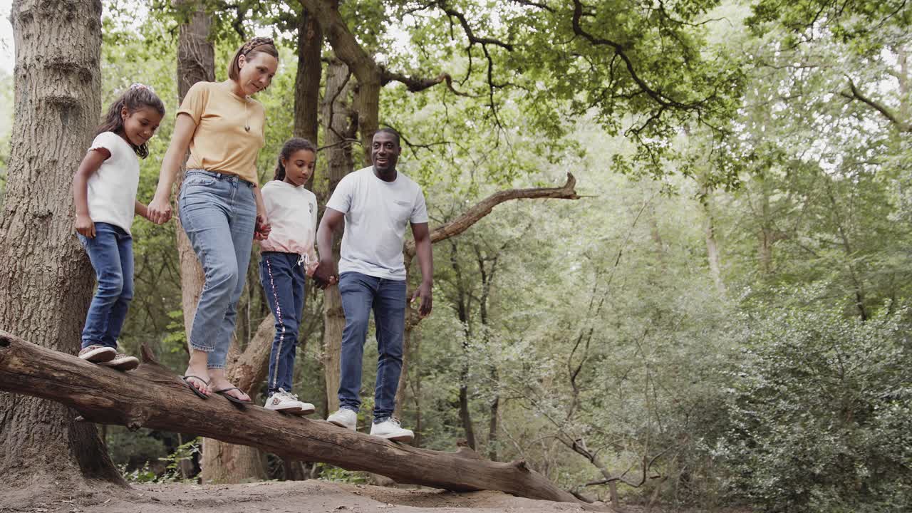
{"type": "Polygon", "coordinates": [[[146,217],[136,200],[146,143],[165,115],[161,99],[133,84],[111,104],[95,140],[73,177],[76,231],[98,278],[88,307],[79,358],[120,371],[140,361],[117,351],[117,339],[133,298],[133,216],[146,217]]]}

